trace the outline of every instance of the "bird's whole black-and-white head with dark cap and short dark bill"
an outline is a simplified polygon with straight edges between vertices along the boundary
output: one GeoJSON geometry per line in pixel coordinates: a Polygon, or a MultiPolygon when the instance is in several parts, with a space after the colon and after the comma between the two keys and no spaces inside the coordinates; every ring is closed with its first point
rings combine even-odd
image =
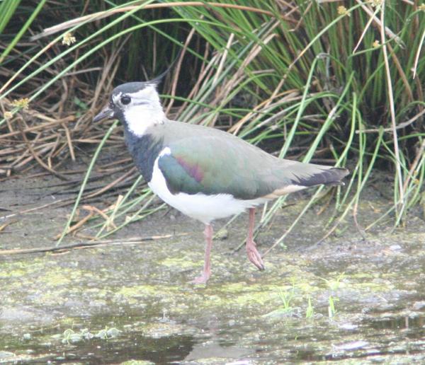
{"type": "Polygon", "coordinates": [[[158,81],[123,83],[113,89],[108,105],[94,117],[94,122],[117,118],[129,132],[142,136],[147,127],[164,122],[158,81]]]}

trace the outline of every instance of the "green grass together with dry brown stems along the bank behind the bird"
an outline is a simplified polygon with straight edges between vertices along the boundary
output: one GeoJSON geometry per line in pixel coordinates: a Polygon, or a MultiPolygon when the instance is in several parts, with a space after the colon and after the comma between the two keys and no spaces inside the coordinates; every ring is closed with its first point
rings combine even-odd
{"type": "MultiPolygon", "coordinates": [[[[171,117],[226,129],[276,156],[351,169],[346,189],[332,192],[329,234],[346,216],[358,226],[362,192],[377,170],[392,184],[392,204],[380,219],[391,216],[397,226],[420,202],[425,8],[418,1],[8,6],[0,21],[3,178],[33,166],[67,178],[64,161],[93,151],[87,146],[123,151],[119,128],[105,140],[111,124],[93,124],[91,117],[114,85],[152,78],[181,50],[163,88],[171,117]],[[58,23],[55,14],[69,20],[58,23]]],[[[96,163],[91,166],[96,169],[96,163]]],[[[142,191],[140,218],[152,212],[152,197],[138,184],[130,190],[142,191]]],[[[120,216],[122,207],[132,207],[131,199],[103,214],[120,216]]],[[[264,210],[259,228],[283,202],[264,210]]],[[[125,222],[136,219],[124,216],[125,222]]],[[[98,236],[106,231],[101,228],[98,236]]]]}

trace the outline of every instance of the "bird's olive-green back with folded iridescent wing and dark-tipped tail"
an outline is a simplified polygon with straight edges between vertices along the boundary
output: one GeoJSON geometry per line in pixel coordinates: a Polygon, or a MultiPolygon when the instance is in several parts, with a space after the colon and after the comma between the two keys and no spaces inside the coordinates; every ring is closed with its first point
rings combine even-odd
{"type": "Polygon", "coordinates": [[[164,158],[162,164],[169,187],[188,194],[227,193],[239,199],[271,199],[313,185],[338,184],[348,173],[344,168],[276,158],[219,129],[169,120],[154,129],[171,150],[172,156],[164,158]],[[182,173],[170,167],[171,158],[183,166],[182,173],[189,174],[184,181],[182,173]],[[167,168],[172,170],[169,176],[167,168]],[[195,173],[198,175],[193,176],[195,173]]]}

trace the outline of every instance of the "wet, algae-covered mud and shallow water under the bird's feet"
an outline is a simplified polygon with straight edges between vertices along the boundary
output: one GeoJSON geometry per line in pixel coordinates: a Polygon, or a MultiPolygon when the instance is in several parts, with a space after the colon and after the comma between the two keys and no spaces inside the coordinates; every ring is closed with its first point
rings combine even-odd
{"type": "MultiPolygon", "coordinates": [[[[0,192],[2,207],[16,209],[15,189],[0,192]]],[[[21,187],[21,206],[52,199],[45,194],[34,201],[37,194],[21,187]]],[[[373,209],[361,207],[361,224],[386,204],[375,192],[368,194],[373,209]]],[[[300,212],[304,197],[297,199],[300,204],[284,209],[260,234],[260,251],[300,212]]],[[[69,210],[15,217],[0,233],[0,249],[53,245],[69,210]]],[[[247,219],[239,217],[229,237],[215,242],[207,286],[188,283],[203,264],[202,226],[173,211],[117,236],[176,233],[171,238],[0,255],[0,362],[425,362],[421,212],[410,216],[406,228],[390,233],[384,224],[365,241],[347,219],[339,236],[314,245],[327,221],[318,210],[305,216],[285,248],[265,257],[264,272],[256,271],[243,250],[232,253],[246,231],[247,219]]]]}

